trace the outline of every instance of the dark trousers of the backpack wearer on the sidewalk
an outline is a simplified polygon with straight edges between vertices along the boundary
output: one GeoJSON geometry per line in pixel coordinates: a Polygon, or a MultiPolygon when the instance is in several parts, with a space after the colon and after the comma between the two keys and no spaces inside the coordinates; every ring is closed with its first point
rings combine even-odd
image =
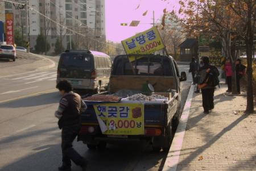
{"type": "Polygon", "coordinates": [[[201,89],[203,98],[204,111],[209,111],[214,108],[213,96],[215,88],[213,89],[201,89]]]}

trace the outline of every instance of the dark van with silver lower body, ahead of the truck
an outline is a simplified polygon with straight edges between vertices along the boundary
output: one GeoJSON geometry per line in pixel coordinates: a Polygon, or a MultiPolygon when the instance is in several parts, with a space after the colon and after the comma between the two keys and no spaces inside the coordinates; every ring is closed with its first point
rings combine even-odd
{"type": "Polygon", "coordinates": [[[112,69],[110,57],[96,51],[67,50],[61,54],[57,82],[68,80],[76,90],[106,90],[112,69]]]}

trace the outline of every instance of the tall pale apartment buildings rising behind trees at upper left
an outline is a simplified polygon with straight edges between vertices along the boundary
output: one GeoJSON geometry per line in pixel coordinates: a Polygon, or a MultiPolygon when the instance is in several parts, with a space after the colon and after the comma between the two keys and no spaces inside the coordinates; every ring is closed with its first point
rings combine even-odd
{"type": "MultiPolygon", "coordinates": [[[[26,1],[15,0],[19,3],[26,1]]],[[[51,46],[48,54],[54,52],[57,37],[62,40],[64,48],[70,40],[78,48],[88,48],[89,41],[96,39],[94,31],[96,36],[101,36],[98,41],[106,39],[105,0],[28,0],[28,3],[32,51],[35,50],[36,38],[40,33],[47,35],[51,46]]],[[[26,8],[16,9],[12,3],[5,2],[5,12],[14,13],[15,28],[27,35],[26,8]]]]}

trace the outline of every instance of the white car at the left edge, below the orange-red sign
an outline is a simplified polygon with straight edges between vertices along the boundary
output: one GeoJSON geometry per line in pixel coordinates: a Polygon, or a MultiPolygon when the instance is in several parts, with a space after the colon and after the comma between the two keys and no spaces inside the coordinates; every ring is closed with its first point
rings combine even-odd
{"type": "Polygon", "coordinates": [[[0,46],[0,59],[11,59],[15,61],[16,51],[13,45],[0,46]]]}

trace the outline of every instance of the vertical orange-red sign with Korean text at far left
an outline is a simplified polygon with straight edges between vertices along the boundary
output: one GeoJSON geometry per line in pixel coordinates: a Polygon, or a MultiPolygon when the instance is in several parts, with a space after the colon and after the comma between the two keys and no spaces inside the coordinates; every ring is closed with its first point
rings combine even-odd
{"type": "Polygon", "coordinates": [[[14,44],[13,13],[5,14],[6,18],[6,44],[14,44]]]}

